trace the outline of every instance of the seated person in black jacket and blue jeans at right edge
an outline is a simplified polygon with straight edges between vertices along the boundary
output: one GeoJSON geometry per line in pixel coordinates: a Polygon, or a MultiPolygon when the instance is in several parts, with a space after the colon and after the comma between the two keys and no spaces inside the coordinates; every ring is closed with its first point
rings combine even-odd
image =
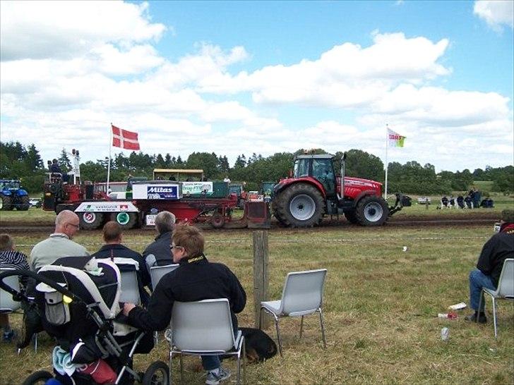
{"type": "Polygon", "coordinates": [[[465,317],[467,321],[476,322],[478,317],[479,323],[487,322],[483,298],[482,308],[478,308],[480,296],[483,296],[482,288],[496,290],[503,262],[513,255],[514,210],[503,210],[499,233],[486,242],[480,253],[477,269],[470,272],[470,307],[474,310],[474,314],[465,317]]]}

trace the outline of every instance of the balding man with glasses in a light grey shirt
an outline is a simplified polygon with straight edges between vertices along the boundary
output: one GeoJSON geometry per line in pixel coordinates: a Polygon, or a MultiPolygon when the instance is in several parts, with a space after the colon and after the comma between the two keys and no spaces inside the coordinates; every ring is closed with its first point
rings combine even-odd
{"type": "Polygon", "coordinates": [[[49,238],[42,240],[30,252],[30,269],[38,271],[45,264],[52,264],[61,257],[80,257],[89,255],[84,246],[73,242],[80,221],[71,210],[63,210],[55,218],[55,231],[49,238]]]}

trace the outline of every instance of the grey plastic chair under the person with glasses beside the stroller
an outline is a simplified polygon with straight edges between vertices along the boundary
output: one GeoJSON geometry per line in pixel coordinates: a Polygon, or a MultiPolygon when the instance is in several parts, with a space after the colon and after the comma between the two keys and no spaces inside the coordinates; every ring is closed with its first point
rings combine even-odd
{"type": "MultiPolygon", "coordinates": [[[[169,381],[172,383],[172,358],[180,355],[181,382],[184,382],[182,355],[235,355],[237,384],[241,383],[241,359],[246,376],[244,336],[234,336],[227,298],[198,302],[174,302],[169,345],[169,381]]],[[[243,377],[243,381],[245,378],[243,377]]]]}

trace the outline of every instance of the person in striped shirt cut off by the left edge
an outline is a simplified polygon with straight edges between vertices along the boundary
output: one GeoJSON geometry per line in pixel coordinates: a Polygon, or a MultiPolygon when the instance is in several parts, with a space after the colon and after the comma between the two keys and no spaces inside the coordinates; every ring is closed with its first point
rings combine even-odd
{"type": "MultiPolygon", "coordinates": [[[[13,238],[8,234],[0,234],[0,269],[30,269],[27,256],[16,251],[13,238]]],[[[26,279],[20,279],[20,284],[25,286],[26,279]]],[[[2,339],[11,342],[16,333],[11,329],[8,314],[0,313],[0,326],[4,328],[2,339]]]]}

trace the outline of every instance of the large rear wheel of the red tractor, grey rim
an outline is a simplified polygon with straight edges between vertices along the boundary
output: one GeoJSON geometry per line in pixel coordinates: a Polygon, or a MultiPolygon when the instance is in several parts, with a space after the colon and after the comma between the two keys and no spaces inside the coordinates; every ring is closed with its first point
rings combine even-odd
{"type": "Polygon", "coordinates": [[[273,202],[277,220],[289,227],[312,227],[325,212],[321,193],[306,183],[287,186],[273,202]]]}

